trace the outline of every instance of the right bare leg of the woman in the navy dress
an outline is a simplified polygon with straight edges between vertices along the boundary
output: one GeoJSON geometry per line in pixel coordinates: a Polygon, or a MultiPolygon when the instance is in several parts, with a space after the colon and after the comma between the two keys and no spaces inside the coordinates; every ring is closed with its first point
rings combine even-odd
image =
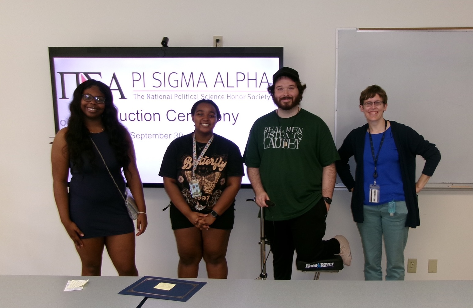
{"type": "Polygon", "coordinates": [[[105,247],[119,276],[138,276],[133,232],[105,237],[105,247]]]}

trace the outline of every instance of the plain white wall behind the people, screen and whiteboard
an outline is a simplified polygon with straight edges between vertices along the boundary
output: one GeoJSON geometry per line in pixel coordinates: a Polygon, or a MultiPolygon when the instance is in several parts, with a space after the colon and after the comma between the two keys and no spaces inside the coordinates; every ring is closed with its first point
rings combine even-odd
{"type": "MultiPolygon", "coordinates": [[[[0,274],[80,275],[79,257],[53,200],[47,47],[158,46],[163,36],[170,46],[211,46],[213,35],[223,35],[225,46],[283,46],[284,64],[307,83],[303,108],[322,117],[333,132],[336,28],[472,26],[472,11],[469,0],[1,1],[0,274]]],[[[244,201],[252,195],[243,190],[236,198],[230,278],[251,279],[259,272],[257,208],[244,201]]],[[[140,275],[175,277],[174,237],[168,213],[161,211],[168,199],[163,189],[145,189],[145,197],[149,228],[137,239],[140,275]]],[[[347,191],[335,192],[327,238],[342,233],[350,240],[352,266],[321,279],[363,279],[349,198],[347,191]]],[[[421,226],[410,230],[405,251],[406,258],[418,259],[418,273],[406,279],[473,279],[472,200],[471,191],[421,192],[421,226]],[[437,274],[427,273],[429,258],[438,259],[437,274]]],[[[272,277],[271,265],[268,273],[272,277]]],[[[116,275],[107,258],[103,275],[116,275]]],[[[206,276],[204,267],[199,276],[206,276]]],[[[312,275],[295,272],[293,278],[312,275]]]]}

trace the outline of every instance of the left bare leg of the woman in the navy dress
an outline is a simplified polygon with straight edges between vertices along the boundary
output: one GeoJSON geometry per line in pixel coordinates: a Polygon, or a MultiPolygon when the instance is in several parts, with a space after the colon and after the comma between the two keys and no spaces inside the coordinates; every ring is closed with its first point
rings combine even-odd
{"type": "Polygon", "coordinates": [[[76,247],[80,261],[82,262],[82,276],[100,276],[105,238],[93,237],[90,239],[82,239],[82,242],[84,246],[76,247]]]}

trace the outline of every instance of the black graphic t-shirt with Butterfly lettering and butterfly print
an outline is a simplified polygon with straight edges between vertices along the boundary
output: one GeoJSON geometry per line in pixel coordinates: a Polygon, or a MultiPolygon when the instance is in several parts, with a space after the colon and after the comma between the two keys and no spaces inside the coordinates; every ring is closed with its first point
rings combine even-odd
{"type": "MultiPolygon", "coordinates": [[[[197,143],[197,157],[205,144],[197,143]],[[199,150],[201,148],[201,150],[199,150]]],[[[195,177],[199,181],[201,197],[192,198],[189,181],[192,179],[192,133],[169,144],[164,154],[159,175],[176,179],[187,204],[194,212],[210,213],[227,186],[228,176],[243,176],[243,159],[235,143],[214,134],[213,141],[201,158],[195,177]]]]}

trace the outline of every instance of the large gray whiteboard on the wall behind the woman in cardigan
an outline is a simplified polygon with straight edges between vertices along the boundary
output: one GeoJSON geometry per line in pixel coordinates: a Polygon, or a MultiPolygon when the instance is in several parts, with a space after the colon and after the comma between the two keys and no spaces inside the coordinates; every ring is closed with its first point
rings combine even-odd
{"type": "MultiPolygon", "coordinates": [[[[377,84],[388,97],[385,119],[412,127],[440,150],[429,183],[473,183],[473,31],[338,29],[336,70],[337,148],[366,124],[359,94],[377,84]]],[[[418,157],[417,177],[423,166],[418,157]]]]}

